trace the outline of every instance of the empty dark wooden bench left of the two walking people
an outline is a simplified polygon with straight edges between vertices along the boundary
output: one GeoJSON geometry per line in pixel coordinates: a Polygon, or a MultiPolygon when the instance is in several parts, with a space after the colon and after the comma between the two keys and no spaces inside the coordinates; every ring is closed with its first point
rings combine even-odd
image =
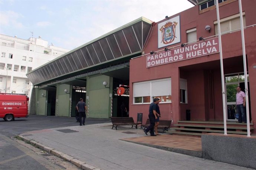
{"type": "Polygon", "coordinates": [[[135,123],[132,117],[112,117],[111,122],[113,124],[112,129],[115,126],[115,130],[117,130],[117,126],[125,126],[125,125],[132,125],[132,128],[138,128],[139,123],[135,123]]]}

